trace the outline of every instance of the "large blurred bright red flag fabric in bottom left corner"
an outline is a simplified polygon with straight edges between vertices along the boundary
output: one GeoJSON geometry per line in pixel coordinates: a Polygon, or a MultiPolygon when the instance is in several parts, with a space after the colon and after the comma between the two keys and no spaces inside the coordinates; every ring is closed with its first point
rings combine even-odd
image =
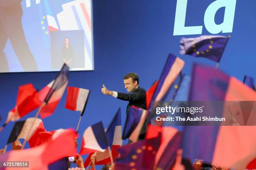
{"type": "Polygon", "coordinates": [[[28,161],[31,170],[48,170],[48,165],[61,158],[76,155],[75,138],[77,133],[74,130],[64,130],[62,133],[53,135],[46,143],[26,149],[12,150],[0,155],[0,161],[28,161]]]}

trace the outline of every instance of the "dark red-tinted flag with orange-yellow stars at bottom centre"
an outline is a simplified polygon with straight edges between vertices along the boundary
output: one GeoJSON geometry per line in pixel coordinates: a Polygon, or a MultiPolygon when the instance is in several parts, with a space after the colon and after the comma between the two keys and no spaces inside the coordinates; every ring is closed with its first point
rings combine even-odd
{"type": "Polygon", "coordinates": [[[153,170],[161,135],[118,148],[115,170],[153,170]]]}

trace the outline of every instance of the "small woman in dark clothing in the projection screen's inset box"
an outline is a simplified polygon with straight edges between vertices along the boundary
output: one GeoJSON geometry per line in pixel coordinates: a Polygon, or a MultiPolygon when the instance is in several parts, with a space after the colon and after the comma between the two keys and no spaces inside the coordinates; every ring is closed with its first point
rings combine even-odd
{"type": "Polygon", "coordinates": [[[69,38],[65,38],[64,46],[62,47],[62,57],[63,61],[69,65],[69,67],[73,67],[74,63],[74,50],[72,46],[69,44],[69,38]]]}

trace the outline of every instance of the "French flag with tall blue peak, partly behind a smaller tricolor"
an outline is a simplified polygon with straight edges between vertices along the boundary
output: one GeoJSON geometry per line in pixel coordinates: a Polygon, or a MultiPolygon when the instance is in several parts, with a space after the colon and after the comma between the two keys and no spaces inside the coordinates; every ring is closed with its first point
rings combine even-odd
{"type": "MultiPolygon", "coordinates": [[[[121,109],[119,108],[113,119],[111,120],[108,128],[105,130],[108,143],[111,147],[111,153],[113,160],[118,157],[118,148],[122,145],[122,127],[121,127],[121,109]]],[[[84,161],[84,167],[87,167],[90,164],[91,153],[87,159],[84,161]]],[[[105,152],[97,152],[97,159],[95,165],[106,165],[110,163],[110,155],[108,150],[105,152]]]]}

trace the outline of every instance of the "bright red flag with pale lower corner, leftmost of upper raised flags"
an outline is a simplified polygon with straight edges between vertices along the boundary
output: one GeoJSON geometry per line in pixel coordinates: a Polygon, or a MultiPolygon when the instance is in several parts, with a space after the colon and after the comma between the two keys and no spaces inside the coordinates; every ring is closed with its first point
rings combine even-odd
{"type": "Polygon", "coordinates": [[[38,93],[31,83],[19,87],[15,107],[8,113],[6,123],[19,120],[41,105],[38,93]]]}

